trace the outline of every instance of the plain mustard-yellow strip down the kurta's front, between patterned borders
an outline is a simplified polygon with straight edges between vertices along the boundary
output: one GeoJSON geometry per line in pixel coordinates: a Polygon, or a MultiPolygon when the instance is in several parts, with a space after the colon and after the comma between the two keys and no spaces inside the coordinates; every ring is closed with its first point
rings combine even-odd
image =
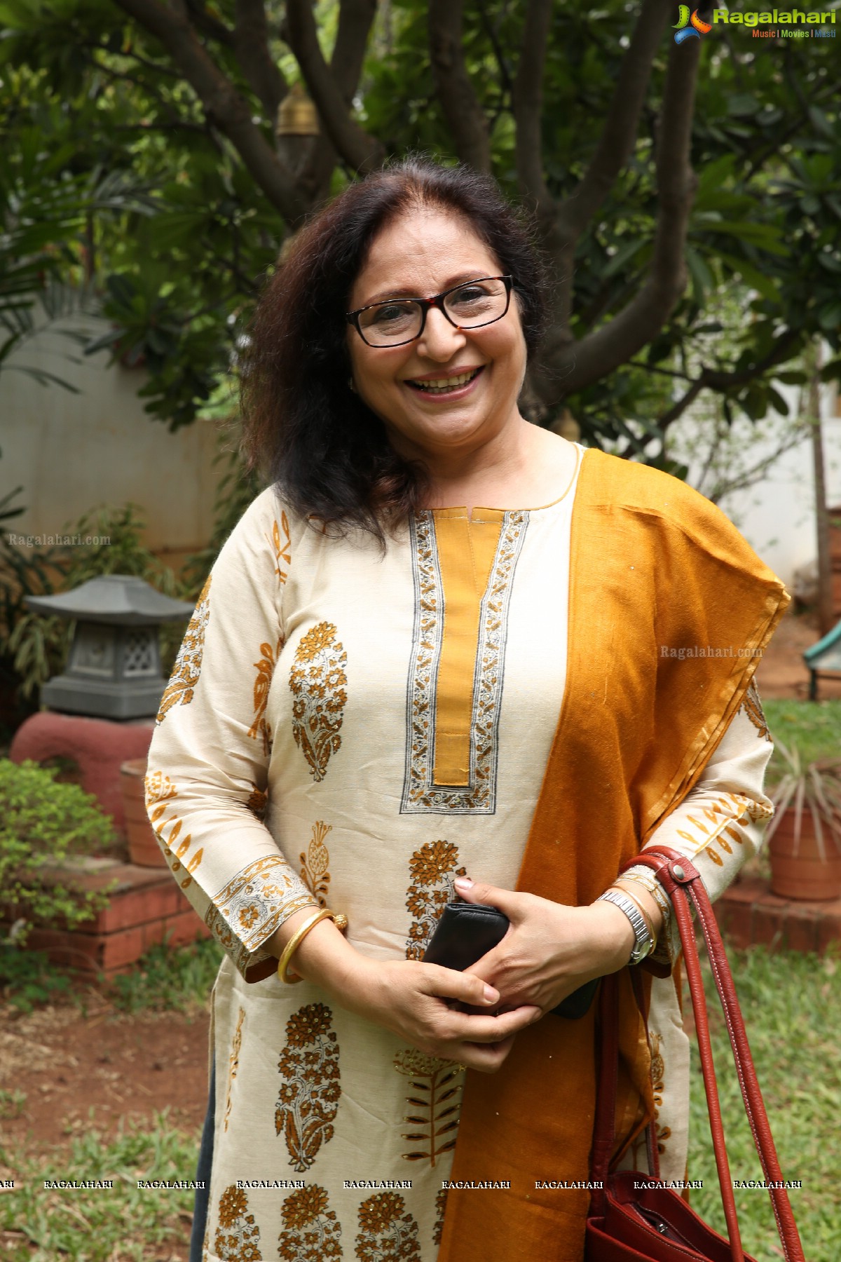
{"type": "Polygon", "coordinates": [[[470,782],[470,722],[479,645],[479,616],[504,514],[480,509],[435,511],[444,634],[435,689],[435,764],[432,782],[470,782]]]}

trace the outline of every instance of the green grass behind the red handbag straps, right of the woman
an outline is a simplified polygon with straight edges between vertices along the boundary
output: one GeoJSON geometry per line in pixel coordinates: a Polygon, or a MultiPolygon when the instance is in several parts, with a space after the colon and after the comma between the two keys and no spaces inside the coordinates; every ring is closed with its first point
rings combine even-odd
{"type": "MultiPolygon", "coordinates": [[[[808,1262],[841,1258],[838,1108],[841,1107],[841,963],[764,948],[729,950],[759,1085],[784,1179],[802,1180],[789,1198],[808,1262]]],[[[707,969],[707,1003],[733,1179],[763,1172],[741,1103],[721,1008],[707,969]],[[712,1021],[714,1015],[716,1020],[712,1021]]],[[[688,1174],[702,1179],[692,1208],[725,1233],[707,1122],[704,1079],[692,1046],[688,1174]]],[[[743,1244],[758,1262],[782,1257],[770,1198],[736,1190],[743,1244]]]]}

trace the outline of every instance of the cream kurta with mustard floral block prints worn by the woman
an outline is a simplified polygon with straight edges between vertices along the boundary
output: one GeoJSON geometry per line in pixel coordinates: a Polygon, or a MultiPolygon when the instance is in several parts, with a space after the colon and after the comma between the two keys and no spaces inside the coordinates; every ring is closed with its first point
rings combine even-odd
{"type": "MultiPolygon", "coordinates": [[[[269,488],[202,591],[146,787],[227,952],[209,1262],[436,1257],[461,1071],[315,986],[247,974],[304,906],[343,911],[372,958],[419,959],[456,875],[514,886],[564,693],[575,485],[560,490],[472,520],[421,512],[383,554],[269,488]]],[[[712,896],[759,843],[769,753],[754,693],[654,834],[712,896]]],[[[653,983],[651,1031],[662,1172],[681,1177],[688,1045],[671,979],[653,983]]]]}

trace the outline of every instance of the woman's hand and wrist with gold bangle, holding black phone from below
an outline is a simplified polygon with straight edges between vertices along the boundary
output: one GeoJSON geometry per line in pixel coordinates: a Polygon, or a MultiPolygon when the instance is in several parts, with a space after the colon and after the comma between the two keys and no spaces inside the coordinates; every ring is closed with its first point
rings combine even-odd
{"type": "MultiPolygon", "coordinates": [[[[280,941],[272,941],[277,955],[298,919],[303,921],[304,915],[290,917],[282,926],[285,933],[276,935],[280,941]]],[[[323,987],[342,1007],[391,1030],[420,1051],[483,1073],[496,1073],[516,1034],[541,1016],[533,1005],[493,1016],[499,992],[473,973],[417,960],[371,959],[351,946],[330,920],[306,934],[291,969],[323,987]],[[461,1005],[474,1011],[465,1012],[461,1005]]]]}

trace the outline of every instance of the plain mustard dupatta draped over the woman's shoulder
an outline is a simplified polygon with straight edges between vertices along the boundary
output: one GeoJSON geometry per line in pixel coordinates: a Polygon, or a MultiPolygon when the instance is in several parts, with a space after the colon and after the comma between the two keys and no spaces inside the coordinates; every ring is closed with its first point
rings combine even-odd
{"type": "MultiPolygon", "coordinates": [[[[564,703],[517,888],[585,905],[693,787],[789,597],[691,487],[596,449],[572,507],[564,703]]],[[[579,1259],[595,1106],[595,1006],[518,1035],[498,1074],[469,1071],[439,1262],[579,1259]],[[478,1242],[482,1242],[480,1246],[478,1242]]],[[[620,977],[619,1147],[652,1116],[649,1056],[620,977]]]]}

